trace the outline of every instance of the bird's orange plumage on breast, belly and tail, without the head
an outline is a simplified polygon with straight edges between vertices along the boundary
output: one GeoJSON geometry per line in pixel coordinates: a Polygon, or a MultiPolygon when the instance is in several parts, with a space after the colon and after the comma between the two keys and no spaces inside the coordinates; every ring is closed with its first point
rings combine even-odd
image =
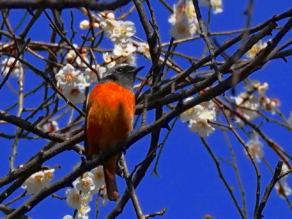
{"type": "MultiPolygon", "coordinates": [[[[96,85],[88,99],[86,118],[87,154],[89,158],[116,147],[133,129],[135,96],[121,85],[109,81],[96,85]]],[[[119,155],[104,165],[109,199],[119,197],[115,180],[119,155]]]]}

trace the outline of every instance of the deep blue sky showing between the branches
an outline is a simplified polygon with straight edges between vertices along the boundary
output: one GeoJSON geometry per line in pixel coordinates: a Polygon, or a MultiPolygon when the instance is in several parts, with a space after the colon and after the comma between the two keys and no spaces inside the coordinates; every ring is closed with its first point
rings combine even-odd
{"type": "MultiPolygon", "coordinates": [[[[167,1],[168,4],[173,5],[176,1],[167,1]]],[[[168,23],[168,17],[170,15],[158,1],[151,1],[152,7],[154,8],[154,14],[157,17],[157,22],[159,26],[159,33],[163,42],[169,42],[170,35],[168,31],[171,25],[168,23]]],[[[132,6],[132,4],[131,4],[132,6]]],[[[211,32],[223,32],[231,30],[239,30],[244,27],[244,8],[246,7],[246,1],[234,0],[228,1],[223,0],[224,11],[223,13],[217,15],[211,15],[211,32]]],[[[292,6],[291,1],[286,0],[265,0],[265,1],[255,1],[254,14],[252,18],[252,26],[256,26],[265,20],[271,18],[275,14],[280,14],[288,11],[292,6]]],[[[130,6],[123,9],[126,12],[130,6]]],[[[207,18],[207,8],[202,8],[203,19],[207,18]]],[[[20,20],[21,16],[24,14],[23,10],[11,11],[10,21],[11,25],[15,27],[20,20]]],[[[30,15],[25,19],[24,24],[30,19],[30,15]]],[[[62,14],[62,19],[65,23],[65,29],[68,30],[68,36],[71,36],[70,32],[70,10],[65,10],[62,14]]],[[[74,43],[81,43],[81,34],[86,34],[86,31],[79,29],[80,21],[86,19],[79,11],[74,11],[74,29],[78,31],[77,36],[74,39],[74,43]]],[[[137,28],[137,36],[141,39],[146,39],[145,33],[142,29],[142,25],[138,19],[137,12],[134,11],[131,15],[127,17],[126,20],[133,21],[137,28]]],[[[287,19],[279,22],[279,26],[283,25],[287,19]]],[[[46,19],[44,14],[35,23],[35,25],[30,30],[27,37],[31,37],[33,41],[44,41],[49,42],[49,36],[51,33],[51,28],[48,26],[49,21],[46,19]]],[[[23,26],[16,32],[16,35],[20,33],[23,26]]],[[[275,32],[273,32],[275,33],[275,32]]],[[[236,35],[232,36],[221,36],[218,40],[223,43],[226,39],[231,39],[236,35]]],[[[281,44],[291,39],[292,33],[289,32],[281,44]]],[[[265,37],[264,40],[270,39],[271,36],[265,37]]],[[[233,46],[228,49],[227,52],[231,54],[237,49],[237,46],[233,46]]],[[[112,42],[105,39],[102,42],[101,48],[112,48],[112,42]]],[[[291,47],[289,47],[291,48],[291,47]]],[[[180,51],[184,54],[201,57],[202,51],[204,49],[204,42],[202,39],[198,39],[193,42],[187,42],[185,44],[180,44],[176,51],[180,51]]],[[[40,53],[43,56],[47,56],[45,53],[40,53]]],[[[100,55],[97,56],[98,63],[102,63],[102,58],[100,55]]],[[[37,68],[43,69],[45,63],[39,61],[30,54],[25,55],[25,59],[28,60],[32,65],[37,68]]],[[[181,58],[174,59],[183,68],[188,68],[189,63],[182,60],[181,58]]],[[[219,61],[223,61],[221,57],[218,57],[219,61]]],[[[289,116],[292,106],[292,65],[291,57],[287,57],[288,63],[283,60],[273,60],[270,61],[262,70],[254,73],[251,79],[258,79],[260,82],[267,82],[269,84],[269,89],[267,91],[267,96],[274,96],[280,100],[281,106],[279,109],[284,113],[286,117],[289,116]]],[[[141,72],[141,75],[145,75],[149,70],[151,63],[145,61],[144,58],[138,56],[138,65],[145,65],[146,68],[141,72]]],[[[173,73],[172,73],[173,74],[173,73]]],[[[34,73],[26,70],[25,74],[25,93],[36,87],[42,82],[40,77],[34,75],[34,73]]],[[[17,80],[14,78],[9,79],[9,83],[15,89],[17,89],[17,80]]],[[[241,91],[241,86],[239,86],[238,91],[241,91]]],[[[14,95],[11,90],[5,86],[1,91],[0,109],[4,110],[8,106],[11,106],[16,100],[17,96],[14,95]]],[[[226,93],[228,94],[228,92],[226,93]]],[[[41,103],[43,92],[39,92],[31,97],[25,99],[25,107],[33,108],[41,103]]],[[[63,102],[64,104],[64,102],[63,102]]],[[[9,111],[12,114],[16,114],[16,109],[9,111]]],[[[43,115],[44,111],[41,111],[36,116],[43,115]]],[[[26,114],[24,114],[26,115],[26,114]]],[[[77,113],[75,113],[77,115],[77,113]]],[[[149,112],[147,117],[147,122],[150,123],[153,120],[154,112],[149,112]]],[[[270,116],[270,114],[267,114],[270,116]]],[[[37,118],[37,117],[36,117],[37,118]]],[[[64,118],[58,120],[60,127],[66,125],[68,115],[64,118]]],[[[274,118],[278,118],[274,116],[274,118]]],[[[30,120],[33,121],[33,120],[30,120]]],[[[258,120],[256,121],[258,122],[258,120]]],[[[291,133],[283,129],[280,126],[274,125],[272,123],[264,124],[263,131],[273,140],[275,140],[281,147],[283,147],[288,153],[292,153],[291,149],[291,133]]],[[[9,125],[0,125],[0,132],[5,132],[7,134],[14,134],[15,129],[9,125]]],[[[166,130],[161,133],[161,140],[164,138],[166,130]]],[[[243,135],[244,140],[247,141],[247,137],[243,135]]],[[[232,136],[232,133],[228,133],[232,147],[237,154],[237,161],[239,166],[239,172],[243,182],[243,186],[246,192],[248,215],[252,217],[253,207],[255,203],[255,191],[256,191],[256,174],[253,169],[252,164],[246,158],[243,147],[237,140],[232,136]]],[[[134,166],[141,162],[147,153],[149,146],[150,136],[141,139],[139,142],[131,146],[127,151],[126,161],[130,170],[133,170],[134,166]]],[[[225,144],[223,135],[220,131],[216,130],[213,134],[206,138],[207,142],[210,144],[213,152],[218,157],[223,157],[231,160],[230,153],[225,144]]],[[[11,144],[13,140],[0,139],[1,154],[0,160],[2,166],[0,168],[0,176],[3,176],[9,171],[9,156],[11,154],[11,144]]],[[[18,155],[16,157],[16,165],[20,165],[27,161],[32,155],[39,151],[46,140],[21,140],[18,145],[18,155]]],[[[279,158],[275,153],[265,144],[264,153],[266,160],[270,163],[274,169],[279,158]]],[[[80,156],[72,151],[67,151],[60,154],[50,161],[46,162],[45,165],[54,166],[59,164],[62,169],[57,169],[55,171],[54,180],[60,179],[65,174],[69,173],[73,166],[80,161],[80,156]]],[[[144,214],[154,213],[161,211],[162,208],[167,207],[167,212],[163,218],[202,218],[203,215],[210,214],[215,218],[231,219],[239,218],[237,210],[224,187],[222,181],[218,177],[217,170],[213,163],[213,160],[209,156],[208,152],[202,145],[199,137],[188,130],[187,124],[178,121],[173,132],[171,132],[170,137],[164,146],[162,156],[158,166],[158,172],[161,177],[150,176],[153,165],[150,167],[146,173],[145,178],[142,180],[137,188],[137,195],[140,201],[142,211],[144,214]]],[[[240,192],[238,185],[236,184],[236,179],[234,172],[230,165],[222,162],[221,168],[223,173],[228,180],[230,185],[234,185],[234,193],[241,203],[240,192]]],[[[265,185],[270,182],[272,177],[269,170],[266,168],[263,162],[259,163],[259,168],[262,173],[262,187],[261,196],[265,189],[265,185]]],[[[117,179],[119,191],[122,194],[125,189],[124,179],[118,177],[117,179]]],[[[292,186],[292,180],[288,178],[288,184],[292,186]]],[[[3,189],[3,188],[2,188],[3,189]]],[[[1,190],[2,191],[2,190],[1,190]]],[[[8,200],[16,197],[18,194],[23,192],[19,189],[13,194],[8,200]]],[[[57,193],[60,196],[65,196],[65,189],[57,193]]],[[[26,198],[20,199],[11,205],[13,208],[17,208],[26,198]]],[[[5,203],[5,202],[4,202],[5,203]]],[[[92,211],[89,213],[89,218],[94,218],[95,207],[94,202],[91,202],[92,211]]],[[[105,207],[100,208],[99,218],[104,218],[116,204],[110,202],[105,207]]],[[[73,214],[74,209],[69,208],[65,201],[53,199],[48,197],[42,201],[38,206],[36,206],[27,215],[32,218],[62,218],[66,214],[73,214]]],[[[273,191],[267,206],[264,210],[264,215],[266,219],[274,219],[279,217],[291,217],[292,212],[289,209],[286,201],[277,196],[276,192],[273,191]]],[[[118,218],[135,218],[135,211],[131,204],[128,202],[124,213],[118,218]]]]}

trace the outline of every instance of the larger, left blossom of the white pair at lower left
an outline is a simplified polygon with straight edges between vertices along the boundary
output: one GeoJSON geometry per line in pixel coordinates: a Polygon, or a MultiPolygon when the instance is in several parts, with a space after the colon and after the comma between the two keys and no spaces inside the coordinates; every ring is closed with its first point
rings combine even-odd
{"type": "Polygon", "coordinates": [[[35,194],[39,192],[42,188],[48,186],[51,180],[46,180],[45,174],[43,171],[32,174],[28,177],[27,180],[22,184],[22,188],[26,189],[27,192],[35,194]]]}

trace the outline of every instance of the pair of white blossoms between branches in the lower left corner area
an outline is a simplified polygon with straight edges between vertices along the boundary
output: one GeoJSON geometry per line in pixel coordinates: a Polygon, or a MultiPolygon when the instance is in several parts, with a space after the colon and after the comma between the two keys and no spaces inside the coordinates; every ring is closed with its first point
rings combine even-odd
{"type": "Polygon", "coordinates": [[[22,188],[26,189],[27,192],[35,194],[39,192],[44,187],[47,187],[53,178],[53,173],[55,169],[42,170],[37,173],[32,174],[27,180],[22,184],[22,188]]]}

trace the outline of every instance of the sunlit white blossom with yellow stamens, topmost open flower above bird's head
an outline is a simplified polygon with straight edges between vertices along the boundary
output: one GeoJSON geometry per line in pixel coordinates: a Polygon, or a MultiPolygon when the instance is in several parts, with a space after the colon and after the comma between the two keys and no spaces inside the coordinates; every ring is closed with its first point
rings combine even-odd
{"type": "Polygon", "coordinates": [[[110,39],[117,42],[126,43],[130,37],[133,37],[136,33],[135,24],[131,21],[119,21],[119,26],[116,26],[112,30],[110,39]]]}

